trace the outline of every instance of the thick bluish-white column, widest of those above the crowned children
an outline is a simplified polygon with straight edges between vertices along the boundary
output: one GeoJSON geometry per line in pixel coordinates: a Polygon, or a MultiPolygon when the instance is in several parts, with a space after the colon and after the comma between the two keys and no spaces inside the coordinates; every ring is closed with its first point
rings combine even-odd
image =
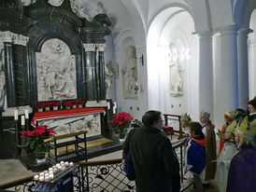
{"type": "Polygon", "coordinates": [[[222,113],[238,107],[237,30],[237,26],[220,29],[222,113]]]}

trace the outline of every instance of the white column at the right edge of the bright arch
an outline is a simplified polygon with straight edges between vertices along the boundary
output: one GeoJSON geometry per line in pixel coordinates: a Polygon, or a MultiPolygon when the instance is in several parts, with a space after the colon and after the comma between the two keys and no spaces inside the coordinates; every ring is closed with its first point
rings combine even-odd
{"type": "Polygon", "coordinates": [[[197,34],[199,37],[199,112],[205,109],[212,114],[212,36],[211,32],[197,34]]]}

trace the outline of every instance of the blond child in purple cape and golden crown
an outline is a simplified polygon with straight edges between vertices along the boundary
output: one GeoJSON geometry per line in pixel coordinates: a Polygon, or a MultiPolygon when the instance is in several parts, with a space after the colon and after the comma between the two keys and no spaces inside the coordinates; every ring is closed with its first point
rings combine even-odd
{"type": "Polygon", "coordinates": [[[227,192],[254,192],[256,188],[256,119],[244,117],[235,129],[238,152],[232,158],[227,192]]]}

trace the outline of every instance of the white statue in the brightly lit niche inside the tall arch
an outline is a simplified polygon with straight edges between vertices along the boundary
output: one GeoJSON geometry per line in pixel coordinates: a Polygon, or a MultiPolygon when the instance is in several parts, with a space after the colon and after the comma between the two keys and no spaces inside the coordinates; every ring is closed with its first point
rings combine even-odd
{"type": "Polygon", "coordinates": [[[178,96],[183,94],[182,90],[182,69],[178,60],[178,48],[171,44],[169,53],[169,68],[170,68],[170,90],[171,96],[178,96]]]}

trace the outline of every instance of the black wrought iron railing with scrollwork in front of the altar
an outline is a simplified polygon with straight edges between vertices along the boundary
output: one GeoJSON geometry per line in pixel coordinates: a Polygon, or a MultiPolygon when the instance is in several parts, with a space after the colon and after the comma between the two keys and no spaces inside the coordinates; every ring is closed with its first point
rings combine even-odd
{"type": "MultiPolygon", "coordinates": [[[[173,148],[178,156],[180,166],[181,183],[186,178],[184,175],[184,145],[185,140],[178,140],[173,143],[173,148]]],[[[37,182],[33,181],[33,176],[24,177],[20,180],[8,182],[0,185],[0,189],[8,191],[35,191],[37,182]]],[[[74,191],[78,192],[134,192],[135,182],[129,181],[123,171],[121,158],[101,161],[83,161],[78,163],[78,168],[73,171],[74,191]]],[[[190,185],[183,185],[181,191],[185,191],[190,185]]],[[[38,188],[38,187],[37,187],[38,188]]]]}

